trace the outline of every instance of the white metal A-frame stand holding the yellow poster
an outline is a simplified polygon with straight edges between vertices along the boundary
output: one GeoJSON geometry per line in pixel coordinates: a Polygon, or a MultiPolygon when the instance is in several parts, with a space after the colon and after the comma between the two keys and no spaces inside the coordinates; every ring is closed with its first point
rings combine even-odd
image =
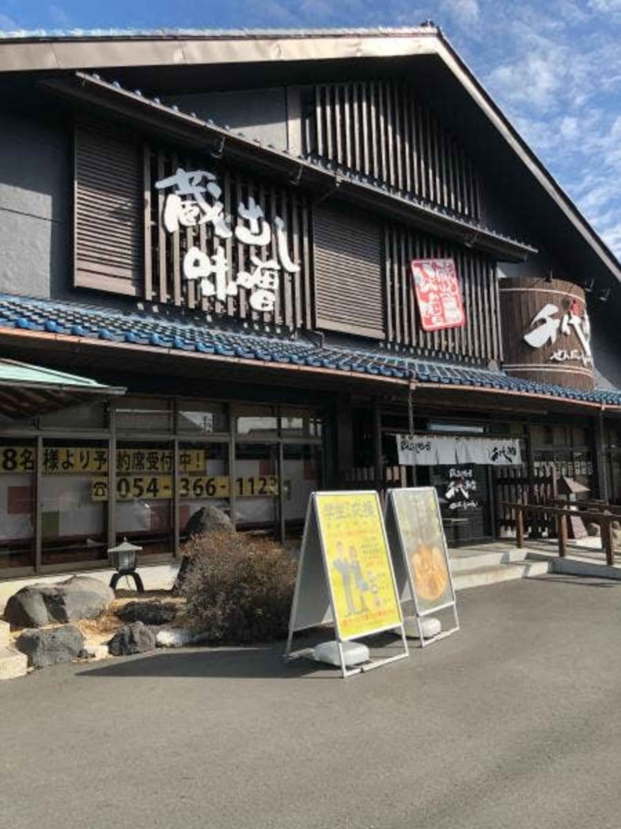
{"type": "Polygon", "coordinates": [[[320,624],[332,623],[335,627],[336,643],[339,650],[340,667],[343,677],[354,676],[359,673],[366,673],[383,665],[388,665],[388,662],[397,662],[399,659],[405,659],[408,654],[407,638],[405,628],[403,627],[403,614],[401,603],[399,601],[399,593],[397,589],[397,581],[395,579],[394,568],[392,565],[392,555],[390,546],[388,545],[388,536],[386,534],[386,527],[384,526],[383,513],[379,503],[378,493],[368,490],[351,490],[338,492],[311,492],[306,507],[306,521],[304,523],[304,535],[302,536],[302,546],[300,552],[300,561],[298,563],[296,589],[293,594],[293,602],[291,604],[291,615],[289,618],[289,635],[286,640],[285,659],[287,661],[299,659],[301,657],[312,657],[312,648],[302,648],[298,651],[291,651],[293,642],[293,634],[298,633],[308,628],[315,628],[320,624]],[[373,495],[378,507],[378,516],[380,525],[382,526],[382,534],[386,550],[388,551],[388,566],[390,568],[392,586],[395,591],[395,598],[397,599],[397,609],[399,618],[401,620],[398,625],[383,625],[380,628],[373,628],[373,630],[365,631],[363,634],[357,633],[352,636],[343,636],[339,630],[339,618],[335,610],[335,597],[332,592],[332,585],[330,582],[330,574],[328,570],[328,559],[325,553],[325,540],[321,530],[321,521],[319,511],[317,510],[317,497],[322,496],[352,496],[352,495],[373,495]],[[319,555],[318,555],[319,554],[319,555]],[[316,584],[312,579],[316,578],[317,564],[321,561],[321,586],[316,584]],[[306,592],[305,592],[306,591],[306,592]],[[309,599],[310,596],[310,607],[309,599]],[[324,605],[321,608],[315,608],[314,603],[324,605]],[[306,603],[306,604],[305,604],[306,603]],[[327,605],[327,606],[326,606],[327,605]],[[319,609],[320,613],[315,613],[315,609],[319,609]],[[395,631],[401,634],[403,643],[403,652],[392,657],[384,657],[383,659],[373,660],[365,665],[354,668],[345,667],[345,659],[343,653],[343,642],[351,642],[356,638],[366,638],[374,636],[378,633],[386,631],[395,631]]]}

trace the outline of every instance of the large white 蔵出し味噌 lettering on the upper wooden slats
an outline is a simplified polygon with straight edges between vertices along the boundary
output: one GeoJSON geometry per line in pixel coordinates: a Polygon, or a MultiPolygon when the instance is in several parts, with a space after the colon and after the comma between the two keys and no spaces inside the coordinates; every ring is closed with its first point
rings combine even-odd
{"type": "MultiPolygon", "coordinates": [[[[157,190],[174,188],[166,195],[162,222],[168,233],[176,233],[180,227],[212,225],[214,235],[220,239],[230,239],[233,230],[224,216],[224,204],[220,201],[222,189],[214,173],[206,170],[183,170],[177,167],[175,175],[162,178],[155,184],[157,190]]],[[[248,204],[240,201],[237,208],[238,224],[235,238],[242,245],[265,247],[272,241],[272,226],[265,221],[263,210],[248,197],[248,204]]],[[[183,275],[190,282],[198,282],[200,293],[204,297],[215,297],[224,302],[227,297],[238,296],[239,289],[251,291],[249,303],[255,311],[272,312],[276,303],[279,272],[296,274],[300,265],[289,255],[285,222],[280,216],[274,216],[273,225],[276,235],[277,259],[264,261],[252,254],[250,261],[253,269],[250,273],[239,271],[230,279],[230,264],[226,259],[224,248],[219,247],[210,255],[195,246],[187,251],[183,258],[183,275]]]]}

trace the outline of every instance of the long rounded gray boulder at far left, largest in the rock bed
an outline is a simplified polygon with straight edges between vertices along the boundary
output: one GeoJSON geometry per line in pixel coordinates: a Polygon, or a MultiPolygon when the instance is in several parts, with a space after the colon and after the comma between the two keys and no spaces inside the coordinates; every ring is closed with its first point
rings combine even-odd
{"type": "Polygon", "coordinates": [[[99,579],[72,576],[58,584],[29,584],[7,601],[4,618],[14,628],[42,628],[53,623],[97,618],[114,599],[99,579]]]}

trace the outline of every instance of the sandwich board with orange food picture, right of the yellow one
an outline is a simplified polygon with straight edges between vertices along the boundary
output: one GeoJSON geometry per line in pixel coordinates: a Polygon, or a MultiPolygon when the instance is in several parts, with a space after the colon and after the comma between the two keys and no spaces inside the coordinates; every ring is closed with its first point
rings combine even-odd
{"type": "Polygon", "coordinates": [[[435,487],[389,489],[384,522],[402,604],[412,602],[421,646],[460,629],[449,553],[435,487]],[[421,618],[451,609],[454,627],[425,638],[421,618]]]}

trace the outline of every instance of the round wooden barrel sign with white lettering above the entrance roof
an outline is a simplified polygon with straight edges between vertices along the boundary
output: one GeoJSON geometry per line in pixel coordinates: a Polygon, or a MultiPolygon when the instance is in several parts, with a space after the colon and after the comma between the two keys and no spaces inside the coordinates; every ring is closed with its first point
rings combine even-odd
{"type": "Polygon", "coordinates": [[[594,389],[585,292],[561,279],[500,279],[503,368],[539,383],[594,389]]]}

